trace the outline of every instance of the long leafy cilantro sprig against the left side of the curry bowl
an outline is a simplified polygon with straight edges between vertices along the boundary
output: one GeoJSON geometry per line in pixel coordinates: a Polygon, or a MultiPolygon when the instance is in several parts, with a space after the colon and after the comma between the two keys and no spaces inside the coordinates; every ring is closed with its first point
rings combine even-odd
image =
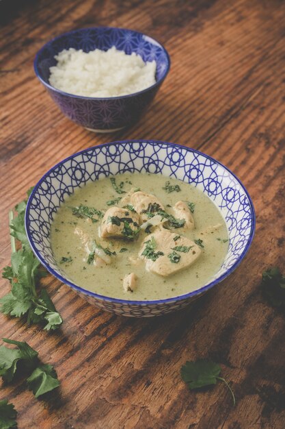
{"type": "MultiPolygon", "coordinates": [[[[31,190],[28,191],[28,195],[31,190]]],[[[27,200],[17,204],[15,210],[18,216],[14,217],[10,211],[11,234],[11,266],[4,267],[2,277],[9,280],[11,291],[0,299],[0,311],[14,317],[25,316],[28,323],[44,323],[45,330],[55,330],[62,324],[59,315],[49,294],[42,289],[40,295],[36,291],[40,278],[46,271],[40,266],[40,261],[33,255],[25,233],[25,208],[27,200]],[[16,241],[21,241],[22,248],[16,251],[16,241]]]]}

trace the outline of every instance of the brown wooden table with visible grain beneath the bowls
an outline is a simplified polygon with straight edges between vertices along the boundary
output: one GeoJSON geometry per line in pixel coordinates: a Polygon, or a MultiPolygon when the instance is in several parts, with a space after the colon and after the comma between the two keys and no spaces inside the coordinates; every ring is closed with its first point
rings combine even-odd
{"type": "MultiPolygon", "coordinates": [[[[39,350],[62,382],[49,402],[36,400],[25,382],[1,387],[18,427],[283,429],[284,314],[262,297],[260,278],[269,266],[285,269],[284,1],[10,0],[0,21],[1,267],[10,263],[8,210],[27,188],[66,156],[111,140],[160,139],[206,152],[240,177],[257,214],[239,268],[173,315],[117,317],[54,278],[47,287],[64,317],[59,332],[0,315],[1,336],[39,350]],[[145,32],[172,59],[145,117],[116,134],[68,121],[33,73],[44,42],[91,25],[145,32]],[[202,357],[221,364],[236,406],[221,383],[190,392],[180,380],[182,363],[202,357]]],[[[9,289],[2,280],[0,295],[9,289]]]]}

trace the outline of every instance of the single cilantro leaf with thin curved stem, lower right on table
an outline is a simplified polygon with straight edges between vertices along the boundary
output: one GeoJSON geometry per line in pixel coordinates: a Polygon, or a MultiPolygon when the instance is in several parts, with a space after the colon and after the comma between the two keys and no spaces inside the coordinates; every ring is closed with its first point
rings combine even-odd
{"type": "Polygon", "coordinates": [[[211,384],[216,384],[217,380],[223,381],[230,393],[232,394],[232,399],[234,404],[236,403],[234,393],[230,388],[228,382],[224,378],[221,378],[219,374],[221,373],[221,367],[211,361],[211,360],[196,360],[189,361],[182,365],[180,369],[181,378],[189,389],[200,389],[204,386],[209,386],[211,384]]]}

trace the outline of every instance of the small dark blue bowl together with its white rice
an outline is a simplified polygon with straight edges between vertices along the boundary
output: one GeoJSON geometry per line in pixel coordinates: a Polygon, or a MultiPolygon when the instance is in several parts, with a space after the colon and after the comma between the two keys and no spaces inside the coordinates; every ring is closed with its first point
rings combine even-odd
{"type": "Polygon", "coordinates": [[[36,76],[71,121],[114,132],[141,117],[170,66],[157,40],[130,29],[94,27],[62,34],[38,51],[36,76]]]}

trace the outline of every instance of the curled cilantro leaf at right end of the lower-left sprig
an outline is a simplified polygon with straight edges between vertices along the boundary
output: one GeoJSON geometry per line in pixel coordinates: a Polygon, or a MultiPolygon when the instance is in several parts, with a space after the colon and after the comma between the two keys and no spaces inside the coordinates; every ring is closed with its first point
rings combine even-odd
{"type": "Polygon", "coordinates": [[[29,390],[33,391],[36,397],[39,397],[59,387],[59,380],[57,380],[57,373],[53,366],[45,364],[34,369],[31,376],[27,378],[27,385],[29,390]]]}

